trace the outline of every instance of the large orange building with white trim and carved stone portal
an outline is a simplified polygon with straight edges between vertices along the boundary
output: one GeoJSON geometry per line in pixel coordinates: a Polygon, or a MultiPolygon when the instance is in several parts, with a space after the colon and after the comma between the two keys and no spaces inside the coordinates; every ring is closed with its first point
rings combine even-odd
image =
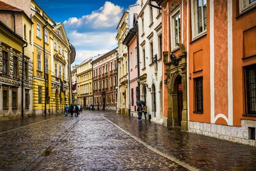
{"type": "Polygon", "coordinates": [[[164,123],[256,145],[256,1],[157,3],[168,94],[164,123]]]}

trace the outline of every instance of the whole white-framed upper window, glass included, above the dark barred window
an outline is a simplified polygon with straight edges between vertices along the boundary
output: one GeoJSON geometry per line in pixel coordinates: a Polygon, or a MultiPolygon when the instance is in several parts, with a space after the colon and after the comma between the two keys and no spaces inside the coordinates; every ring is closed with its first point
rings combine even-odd
{"type": "Polygon", "coordinates": [[[207,0],[193,0],[192,3],[192,33],[195,38],[207,29],[207,0]]]}

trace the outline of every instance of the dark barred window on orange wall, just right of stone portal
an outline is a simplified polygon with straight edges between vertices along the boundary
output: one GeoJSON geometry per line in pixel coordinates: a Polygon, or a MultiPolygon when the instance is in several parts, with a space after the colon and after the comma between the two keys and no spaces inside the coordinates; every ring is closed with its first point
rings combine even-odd
{"type": "Polygon", "coordinates": [[[204,112],[203,77],[195,78],[195,112],[204,112]]]}

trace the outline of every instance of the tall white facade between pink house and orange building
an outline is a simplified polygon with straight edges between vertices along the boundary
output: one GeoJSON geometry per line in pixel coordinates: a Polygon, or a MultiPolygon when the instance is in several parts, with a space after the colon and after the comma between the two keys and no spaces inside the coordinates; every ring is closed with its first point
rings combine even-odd
{"type": "Polygon", "coordinates": [[[141,1],[138,14],[140,100],[152,121],[163,123],[162,13],[154,1],[141,1]]]}

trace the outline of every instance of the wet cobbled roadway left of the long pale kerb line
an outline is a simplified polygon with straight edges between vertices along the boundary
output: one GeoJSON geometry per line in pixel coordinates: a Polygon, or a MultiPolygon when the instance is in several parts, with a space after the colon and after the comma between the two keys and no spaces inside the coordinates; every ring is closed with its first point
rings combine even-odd
{"type": "Polygon", "coordinates": [[[150,151],[99,111],[42,121],[2,131],[0,170],[187,170],[150,151]]]}

